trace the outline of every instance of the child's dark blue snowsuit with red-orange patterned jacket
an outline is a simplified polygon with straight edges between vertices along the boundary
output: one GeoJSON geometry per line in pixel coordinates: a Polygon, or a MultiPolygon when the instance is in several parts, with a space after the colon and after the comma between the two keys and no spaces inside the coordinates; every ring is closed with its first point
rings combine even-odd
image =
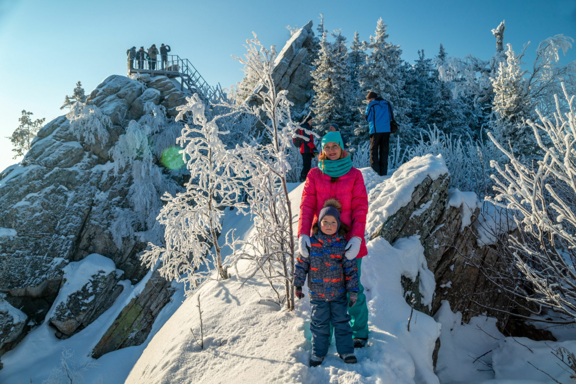
{"type": "Polygon", "coordinates": [[[312,248],[309,257],[297,259],[294,286],[303,286],[308,274],[308,293],[312,307],[312,353],[319,357],[328,353],[332,323],[338,354],[353,354],[354,342],[346,291],[358,292],[356,259],[348,260],[344,256],[346,240],[342,235],[324,235],[319,232],[310,237],[310,243],[312,248]]]}

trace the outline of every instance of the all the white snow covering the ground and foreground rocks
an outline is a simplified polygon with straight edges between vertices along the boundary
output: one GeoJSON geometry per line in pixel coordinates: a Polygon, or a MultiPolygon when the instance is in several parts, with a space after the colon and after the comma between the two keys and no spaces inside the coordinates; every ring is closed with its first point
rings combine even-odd
{"type": "MultiPolygon", "coordinates": [[[[361,170],[371,196],[369,215],[374,209],[379,210],[369,220],[381,222],[389,217],[403,206],[394,199],[410,198],[413,188],[426,175],[434,179],[447,171],[441,156],[423,156],[413,161],[392,176],[378,176],[370,168],[361,170]]],[[[290,185],[294,214],[299,211],[302,189],[303,184],[290,185]]],[[[297,217],[294,229],[296,226],[297,217]]],[[[241,239],[248,239],[253,222],[249,217],[238,215],[237,210],[228,211],[223,233],[231,228],[236,228],[236,235],[241,239]]],[[[379,238],[367,243],[367,249],[368,255],[362,262],[362,284],[369,309],[370,335],[366,348],[355,350],[358,364],[343,363],[333,343],[323,364],[309,368],[308,297],[296,302],[294,312],[287,312],[274,302],[275,295],[259,275],[241,286],[231,268],[230,279],[208,281],[184,301],[182,287],[173,285],[178,290],[160,312],[145,343],[96,360],[97,366],[84,375],[85,383],[552,382],[527,361],[548,373],[558,373],[560,382],[570,382],[562,376],[566,373],[557,370],[559,360],[550,354],[546,343],[576,351],[575,341],[550,343],[518,338],[515,341],[498,332],[493,318],[479,316],[469,324],[461,324],[462,315],[452,313],[448,302],[443,302],[434,318],[415,311],[408,332],[410,306],[403,297],[401,276],[414,279],[420,275],[424,304],[431,302],[435,286],[433,274],[426,268],[419,237],[399,239],[392,245],[379,238]],[[203,350],[192,335],[194,332],[199,337],[198,297],[202,309],[203,350]],[[434,374],[431,355],[438,336],[442,347],[434,374]],[[476,360],[488,351],[491,352],[476,360]],[[480,360],[490,364],[494,371],[480,360]],[[480,371],[482,369],[486,371],[480,371]]],[[[70,275],[70,281],[80,284],[79,276],[86,278],[96,268],[106,271],[115,268],[112,260],[104,260],[100,255],[90,255],[87,259],[85,263],[70,263],[66,267],[67,274],[78,272],[78,277],[70,275]]],[[[240,264],[240,274],[245,275],[246,269],[246,264],[240,264]]],[[[124,306],[141,292],[150,275],[151,272],[134,286],[130,281],[120,282],[124,290],[112,307],[69,339],[56,339],[55,329],[44,321],[14,350],[2,356],[4,368],[0,370],[0,382],[41,383],[48,378],[50,370],[59,365],[64,348],[74,351],[77,363],[91,359],[88,356],[94,345],[124,306]]]]}

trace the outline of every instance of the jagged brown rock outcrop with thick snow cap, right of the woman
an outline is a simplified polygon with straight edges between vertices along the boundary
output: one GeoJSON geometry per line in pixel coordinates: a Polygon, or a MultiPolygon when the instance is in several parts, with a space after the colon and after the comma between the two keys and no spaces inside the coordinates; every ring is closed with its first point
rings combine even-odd
{"type": "Polygon", "coordinates": [[[369,220],[370,215],[376,218],[368,225],[370,238],[382,236],[392,244],[401,237],[420,236],[436,289],[429,310],[420,304],[418,278],[403,277],[404,291],[415,293],[415,309],[434,314],[442,300],[448,300],[454,312],[463,313],[463,321],[487,312],[503,329],[509,316],[486,307],[509,309],[511,303],[473,265],[495,266],[499,256],[491,247],[479,247],[471,225],[480,212],[476,195],[449,190],[450,175],[443,162],[441,156],[414,158],[374,188],[369,199],[377,212],[369,213],[369,220]]]}

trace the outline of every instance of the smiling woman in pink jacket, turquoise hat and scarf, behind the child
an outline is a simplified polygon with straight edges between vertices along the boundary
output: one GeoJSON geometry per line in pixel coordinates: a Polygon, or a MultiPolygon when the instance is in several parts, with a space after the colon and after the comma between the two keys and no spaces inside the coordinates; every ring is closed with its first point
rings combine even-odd
{"type": "MultiPolygon", "coordinates": [[[[364,232],[368,213],[368,196],[362,172],[352,166],[350,154],[342,149],[340,132],[328,132],[322,139],[322,152],[318,156],[318,167],[306,177],[300,218],[298,219],[298,248],[302,257],[308,257],[312,225],[318,221],[320,210],[328,199],[337,199],[342,205],[340,220],[350,228],[346,234],[346,257],[357,258],[358,278],[361,277],[361,262],[367,255],[364,232]]],[[[368,338],[368,308],[364,287],[358,282],[358,300],[348,313],[352,317],[354,347],[363,347],[368,338]]]]}

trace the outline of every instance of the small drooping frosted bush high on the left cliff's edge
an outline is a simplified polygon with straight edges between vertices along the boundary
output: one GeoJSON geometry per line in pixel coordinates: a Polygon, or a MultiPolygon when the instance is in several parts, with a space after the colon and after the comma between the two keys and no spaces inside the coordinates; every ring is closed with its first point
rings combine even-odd
{"type": "Polygon", "coordinates": [[[70,131],[82,143],[93,146],[96,139],[102,145],[108,141],[108,128],[112,126],[112,121],[96,105],[84,105],[77,101],[70,107],[66,118],[70,121],[70,131]]]}

